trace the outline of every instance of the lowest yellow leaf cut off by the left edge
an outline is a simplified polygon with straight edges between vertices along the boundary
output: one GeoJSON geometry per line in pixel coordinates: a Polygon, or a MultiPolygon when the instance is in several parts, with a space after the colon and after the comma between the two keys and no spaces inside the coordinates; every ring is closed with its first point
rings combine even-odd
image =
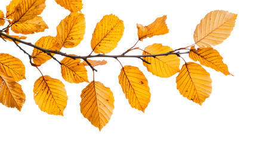
{"type": "Polygon", "coordinates": [[[15,82],[12,77],[7,76],[1,69],[0,83],[0,102],[7,107],[16,107],[18,111],[21,111],[26,100],[21,85],[15,82]]]}

